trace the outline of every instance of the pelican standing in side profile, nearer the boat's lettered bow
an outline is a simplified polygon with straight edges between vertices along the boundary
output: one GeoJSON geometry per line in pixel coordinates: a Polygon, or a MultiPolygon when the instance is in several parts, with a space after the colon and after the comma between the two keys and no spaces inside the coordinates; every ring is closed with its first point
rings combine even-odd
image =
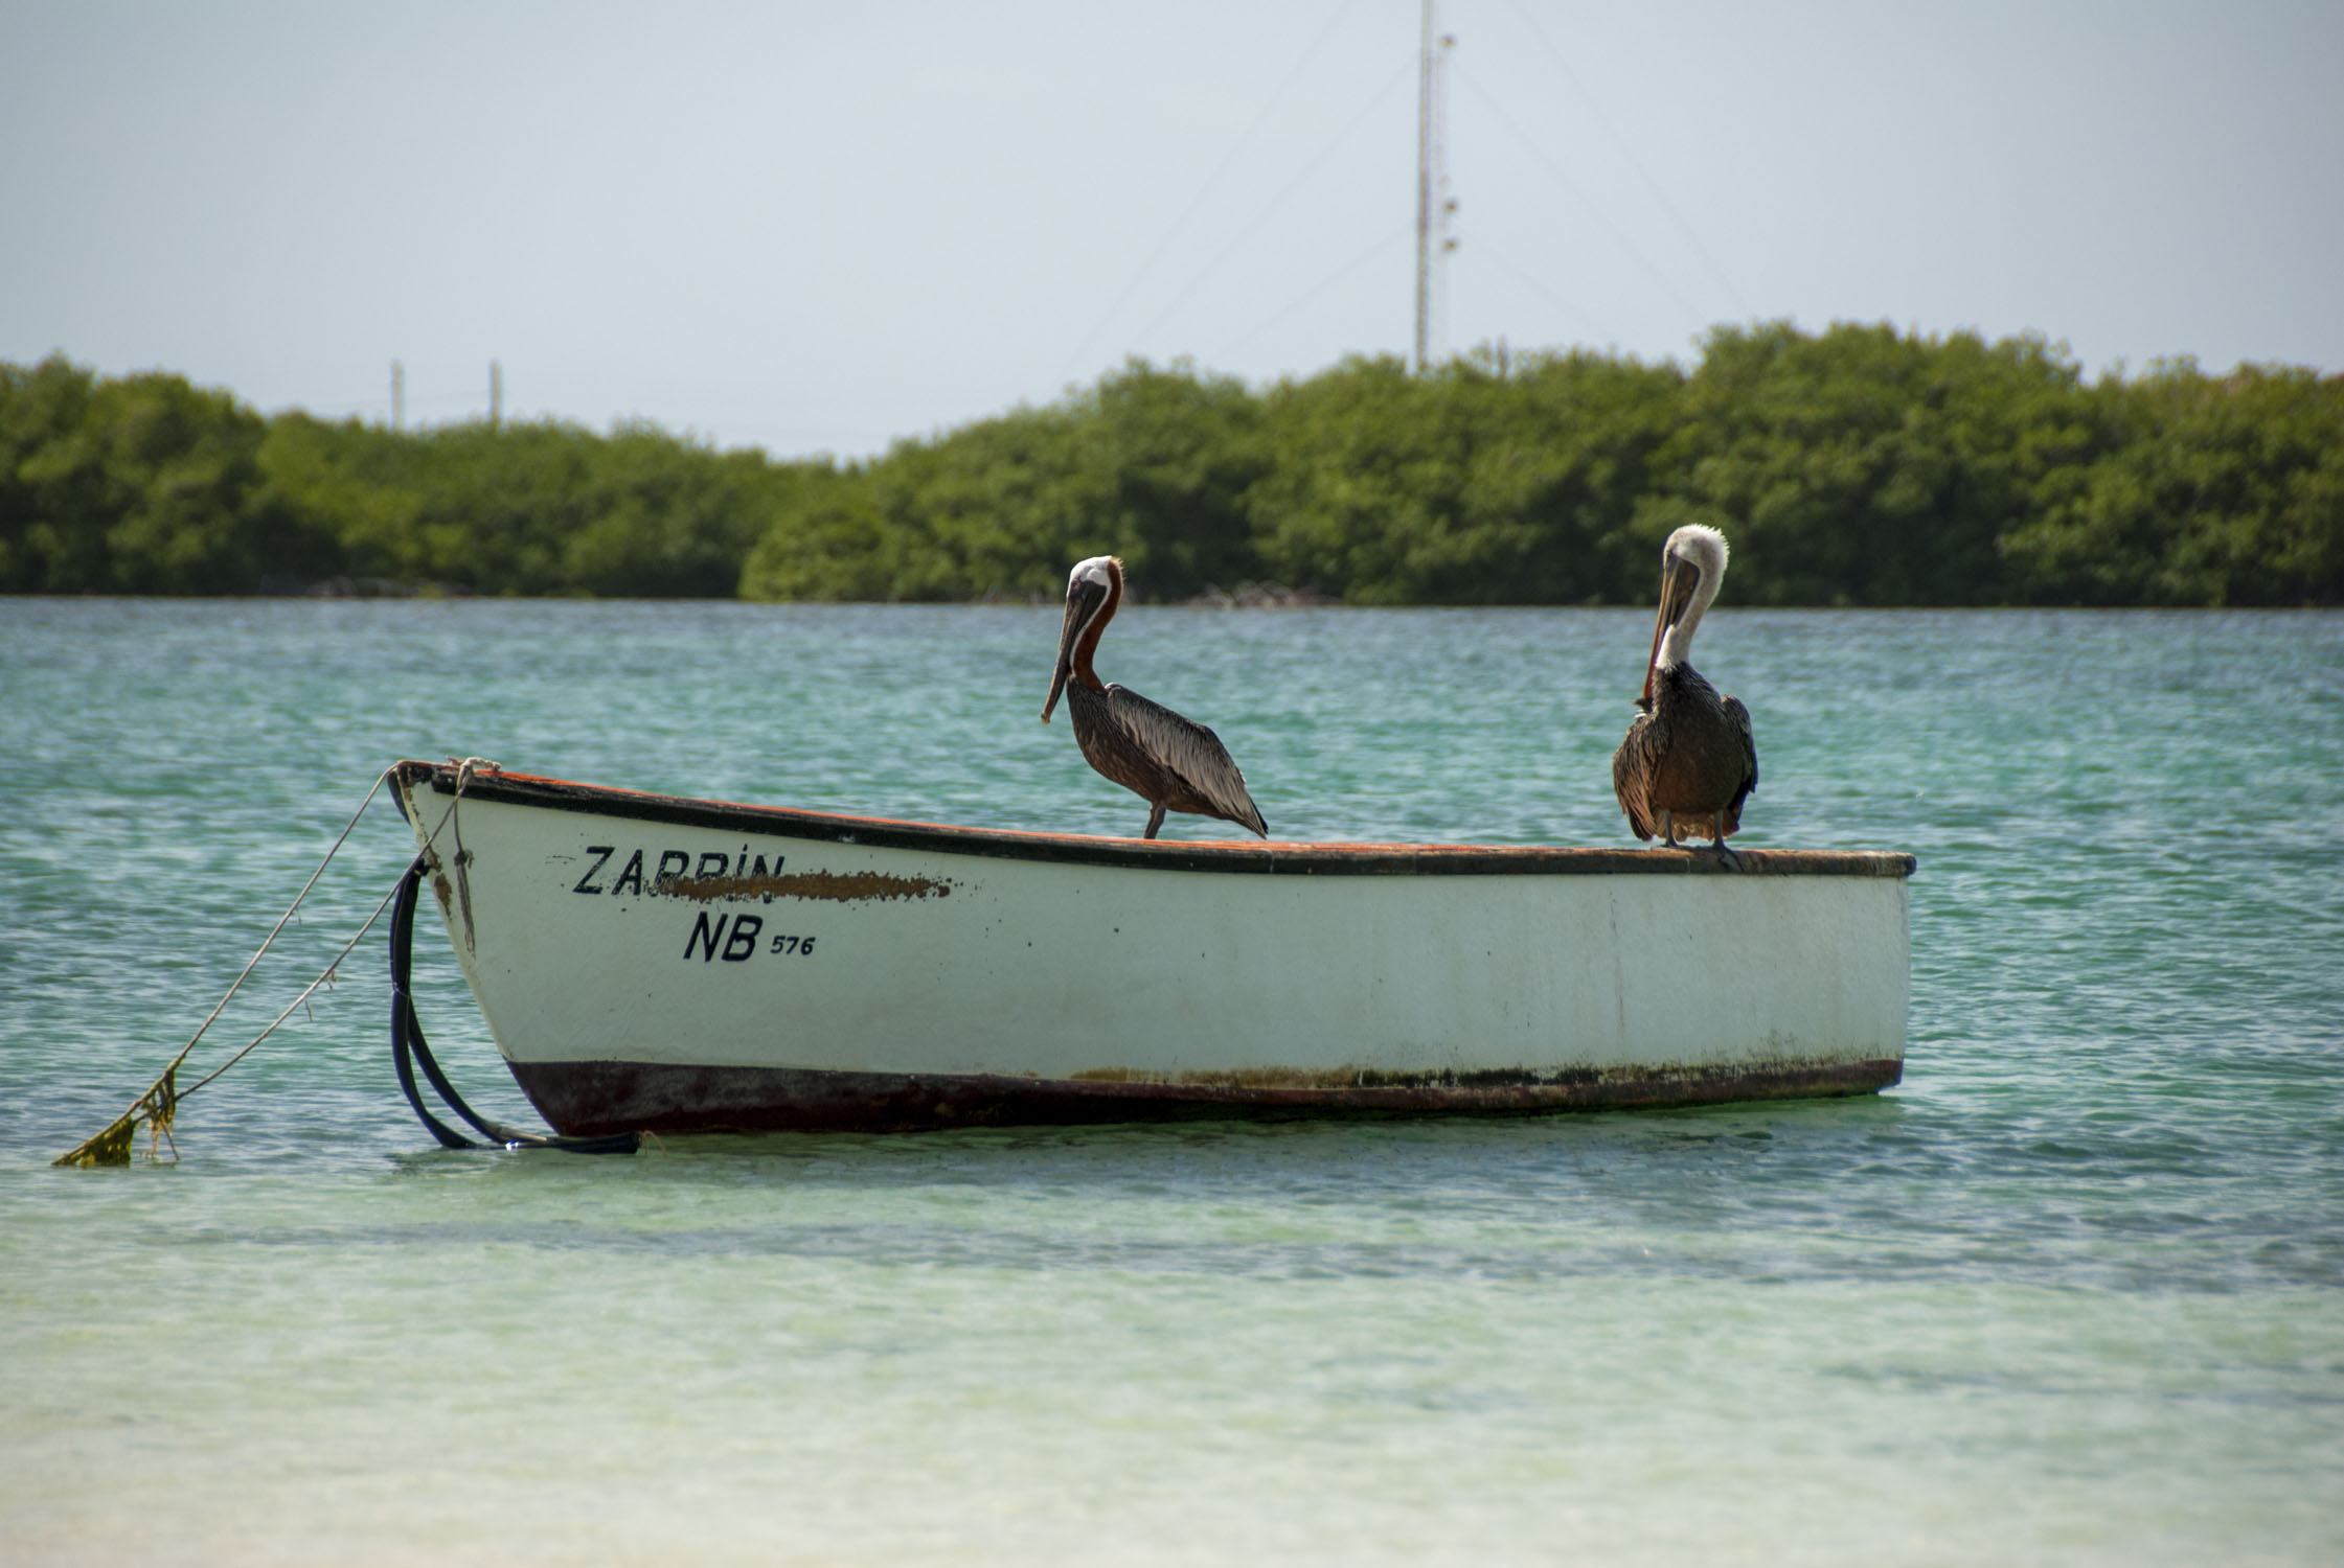
{"type": "Polygon", "coordinates": [[[1228,759],[1217,734],[1137,691],[1102,684],[1090,668],[1099,633],[1116,619],[1120,602],[1123,563],[1113,555],[1078,560],[1067,574],[1067,621],[1057,633],[1057,670],[1050,675],[1041,722],[1050,722],[1064,691],[1083,759],[1149,804],[1149,830],[1142,837],[1156,837],[1165,811],[1217,816],[1270,837],[1254,797],[1245,792],[1245,773],[1228,759]]]}

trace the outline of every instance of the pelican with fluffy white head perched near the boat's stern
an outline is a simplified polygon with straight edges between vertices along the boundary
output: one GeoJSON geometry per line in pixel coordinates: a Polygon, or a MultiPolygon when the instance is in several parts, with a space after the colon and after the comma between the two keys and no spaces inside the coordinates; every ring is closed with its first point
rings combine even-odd
{"type": "Polygon", "coordinates": [[[1718,855],[1742,827],[1742,802],[1758,788],[1751,710],[1692,668],[1692,633],[1718,598],[1725,534],[1690,523],[1660,551],[1660,614],[1643,666],[1643,708],[1613,752],[1613,790],[1638,839],[1655,832],[1676,848],[1676,832],[1706,825],[1718,855]]]}

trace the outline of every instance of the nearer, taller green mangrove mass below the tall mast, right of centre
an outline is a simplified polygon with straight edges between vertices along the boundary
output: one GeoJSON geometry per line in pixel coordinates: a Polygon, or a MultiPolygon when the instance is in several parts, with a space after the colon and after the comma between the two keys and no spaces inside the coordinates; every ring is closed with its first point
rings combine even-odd
{"type": "Polygon", "coordinates": [[[1650,602],[1681,523],[1758,605],[2339,602],[2344,382],[2159,366],[2084,384],[2042,338],[1720,328],[1690,373],[1603,354],[1247,394],[1130,363],[898,443],[785,509],[750,598],[1142,598],[1270,577],[1355,605],[1650,602]]]}

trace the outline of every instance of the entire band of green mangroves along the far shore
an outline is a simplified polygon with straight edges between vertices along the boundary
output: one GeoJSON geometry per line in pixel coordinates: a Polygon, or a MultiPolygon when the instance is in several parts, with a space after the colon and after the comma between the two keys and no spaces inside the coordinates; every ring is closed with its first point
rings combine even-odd
{"type": "Polygon", "coordinates": [[[0,366],[0,591],[1650,602],[1671,527],[1756,605],[2344,602],[2344,377],[2086,384],[2042,338],[1718,328],[1690,370],[1350,359],[1247,389],[1130,361],[832,464],[628,424],[260,420],[176,375],[0,366]]]}

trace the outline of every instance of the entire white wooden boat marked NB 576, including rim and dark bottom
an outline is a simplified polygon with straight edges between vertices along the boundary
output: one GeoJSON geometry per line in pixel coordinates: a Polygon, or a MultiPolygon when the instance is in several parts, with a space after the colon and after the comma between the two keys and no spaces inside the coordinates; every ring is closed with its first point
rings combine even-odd
{"type": "Polygon", "coordinates": [[[1908,855],[1177,844],[396,778],[560,1132],[1526,1113],[1903,1066],[1908,855]]]}

